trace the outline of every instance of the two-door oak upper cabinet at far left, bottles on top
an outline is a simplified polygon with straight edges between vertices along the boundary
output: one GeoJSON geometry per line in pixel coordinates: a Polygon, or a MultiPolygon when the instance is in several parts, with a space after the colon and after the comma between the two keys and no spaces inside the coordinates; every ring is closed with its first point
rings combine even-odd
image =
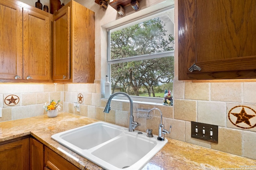
{"type": "Polygon", "coordinates": [[[51,81],[52,14],[0,0],[0,82],[51,81]]]}

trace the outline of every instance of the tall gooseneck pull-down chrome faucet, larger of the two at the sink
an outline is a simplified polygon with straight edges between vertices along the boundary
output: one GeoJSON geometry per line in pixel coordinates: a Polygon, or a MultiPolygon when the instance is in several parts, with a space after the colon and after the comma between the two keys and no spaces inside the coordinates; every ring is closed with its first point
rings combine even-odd
{"type": "Polygon", "coordinates": [[[124,93],[124,92],[116,92],[114,94],[112,94],[109,98],[108,98],[108,102],[106,104],[106,107],[104,109],[104,113],[109,113],[110,111],[110,102],[112,100],[112,98],[114,98],[114,96],[118,95],[118,94],[122,94],[124,96],[126,96],[129,101],[130,101],[130,117],[129,117],[129,128],[128,128],[128,131],[129,132],[132,132],[134,131],[134,129],[140,125],[140,123],[136,122],[136,121],[133,121],[133,103],[132,103],[132,98],[127,94],[127,93],[124,93]]]}

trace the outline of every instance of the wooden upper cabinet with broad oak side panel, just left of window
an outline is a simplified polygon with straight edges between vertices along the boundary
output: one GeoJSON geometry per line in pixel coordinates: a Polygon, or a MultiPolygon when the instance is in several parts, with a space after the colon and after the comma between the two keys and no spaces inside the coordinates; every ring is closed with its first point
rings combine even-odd
{"type": "Polygon", "coordinates": [[[94,82],[94,12],[74,0],[53,15],[52,68],[54,82],[94,82]]]}

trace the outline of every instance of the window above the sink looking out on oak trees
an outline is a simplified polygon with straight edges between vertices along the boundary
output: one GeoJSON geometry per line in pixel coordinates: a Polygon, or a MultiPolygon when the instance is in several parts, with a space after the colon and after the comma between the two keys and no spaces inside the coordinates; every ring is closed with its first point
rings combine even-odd
{"type": "Polygon", "coordinates": [[[174,78],[174,8],[108,30],[111,93],[164,98],[174,78]]]}

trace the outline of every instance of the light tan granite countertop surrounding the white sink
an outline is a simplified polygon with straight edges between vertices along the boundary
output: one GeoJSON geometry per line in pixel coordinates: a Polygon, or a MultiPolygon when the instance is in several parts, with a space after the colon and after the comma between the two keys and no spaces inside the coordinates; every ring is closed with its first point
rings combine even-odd
{"type": "MultiPolygon", "coordinates": [[[[70,113],[59,113],[57,117],[47,115],[18,119],[0,123],[0,143],[32,135],[82,170],[102,170],[100,166],[79,156],[51,139],[55,133],[94,123],[98,120],[70,113]]],[[[256,170],[256,160],[236,156],[168,139],[168,143],[144,166],[143,170],[256,170]]]]}

